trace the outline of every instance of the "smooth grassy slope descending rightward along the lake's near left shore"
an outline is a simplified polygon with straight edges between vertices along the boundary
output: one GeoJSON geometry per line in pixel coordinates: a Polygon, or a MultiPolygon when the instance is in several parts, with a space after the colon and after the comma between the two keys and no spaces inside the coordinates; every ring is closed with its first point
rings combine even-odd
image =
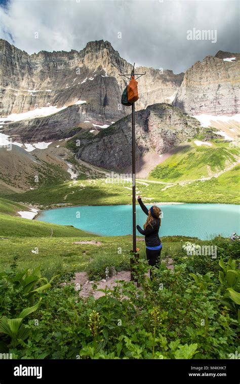
{"type": "MultiPolygon", "coordinates": [[[[0,213],[0,236],[72,237],[85,236],[87,232],[73,226],[45,223],[0,213]]],[[[88,234],[92,236],[92,234],[88,234]]]]}

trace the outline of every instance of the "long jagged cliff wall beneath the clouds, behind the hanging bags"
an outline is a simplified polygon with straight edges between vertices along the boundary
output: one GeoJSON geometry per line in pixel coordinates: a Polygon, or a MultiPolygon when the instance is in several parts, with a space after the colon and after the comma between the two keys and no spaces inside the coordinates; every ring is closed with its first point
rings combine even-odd
{"type": "MultiPolygon", "coordinates": [[[[46,52],[28,55],[0,39],[0,108],[2,115],[22,113],[49,105],[70,106],[86,100],[95,120],[109,115],[114,121],[126,116],[121,95],[132,65],[122,59],[108,41],[91,41],[82,51],[46,52]]],[[[170,102],[179,88],[183,73],[136,68],[145,72],[139,79],[141,102],[137,108],[170,102]],[[170,99],[169,99],[170,98],[170,99]]]]}

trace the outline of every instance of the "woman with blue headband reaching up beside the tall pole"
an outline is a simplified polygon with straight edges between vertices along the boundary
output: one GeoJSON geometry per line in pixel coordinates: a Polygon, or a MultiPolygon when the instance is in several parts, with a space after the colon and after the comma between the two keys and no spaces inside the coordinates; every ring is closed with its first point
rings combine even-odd
{"type": "MultiPolygon", "coordinates": [[[[158,236],[159,227],[161,226],[161,218],[159,216],[162,211],[155,205],[153,205],[148,210],[147,207],[143,204],[141,196],[138,196],[138,203],[140,204],[143,212],[147,215],[147,220],[143,225],[144,229],[137,225],[137,230],[141,234],[145,235],[146,256],[148,264],[158,268],[157,264],[160,262],[161,251],[163,247],[158,236]]],[[[151,269],[150,278],[152,280],[151,269]]]]}

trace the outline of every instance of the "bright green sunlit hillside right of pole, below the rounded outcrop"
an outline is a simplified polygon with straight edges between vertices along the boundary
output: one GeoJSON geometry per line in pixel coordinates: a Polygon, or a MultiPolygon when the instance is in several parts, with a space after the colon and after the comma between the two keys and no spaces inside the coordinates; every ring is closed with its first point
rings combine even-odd
{"type": "Polygon", "coordinates": [[[173,154],[163,163],[157,165],[150,173],[149,179],[164,182],[180,182],[209,177],[222,171],[236,161],[238,148],[230,148],[229,143],[207,141],[212,146],[197,147],[194,140],[173,154]]]}

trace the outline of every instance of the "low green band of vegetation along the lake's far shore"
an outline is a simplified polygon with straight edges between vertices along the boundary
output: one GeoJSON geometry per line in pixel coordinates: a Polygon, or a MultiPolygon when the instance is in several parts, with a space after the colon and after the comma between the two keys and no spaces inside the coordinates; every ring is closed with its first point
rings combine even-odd
{"type": "MultiPolygon", "coordinates": [[[[162,190],[166,184],[151,183],[147,180],[137,181],[136,186],[143,198],[151,198],[149,202],[240,204],[239,169],[240,166],[236,165],[217,178],[185,185],[176,184],[166,190],[162,190]]],[[[49,208],[62,202],[70,205],[132,203],[131,184],[106,183],[104,178],[78,180],[75,184],[65,182],[10,195],[8,198],[23,203],[42,204],[49,208]]]]}

